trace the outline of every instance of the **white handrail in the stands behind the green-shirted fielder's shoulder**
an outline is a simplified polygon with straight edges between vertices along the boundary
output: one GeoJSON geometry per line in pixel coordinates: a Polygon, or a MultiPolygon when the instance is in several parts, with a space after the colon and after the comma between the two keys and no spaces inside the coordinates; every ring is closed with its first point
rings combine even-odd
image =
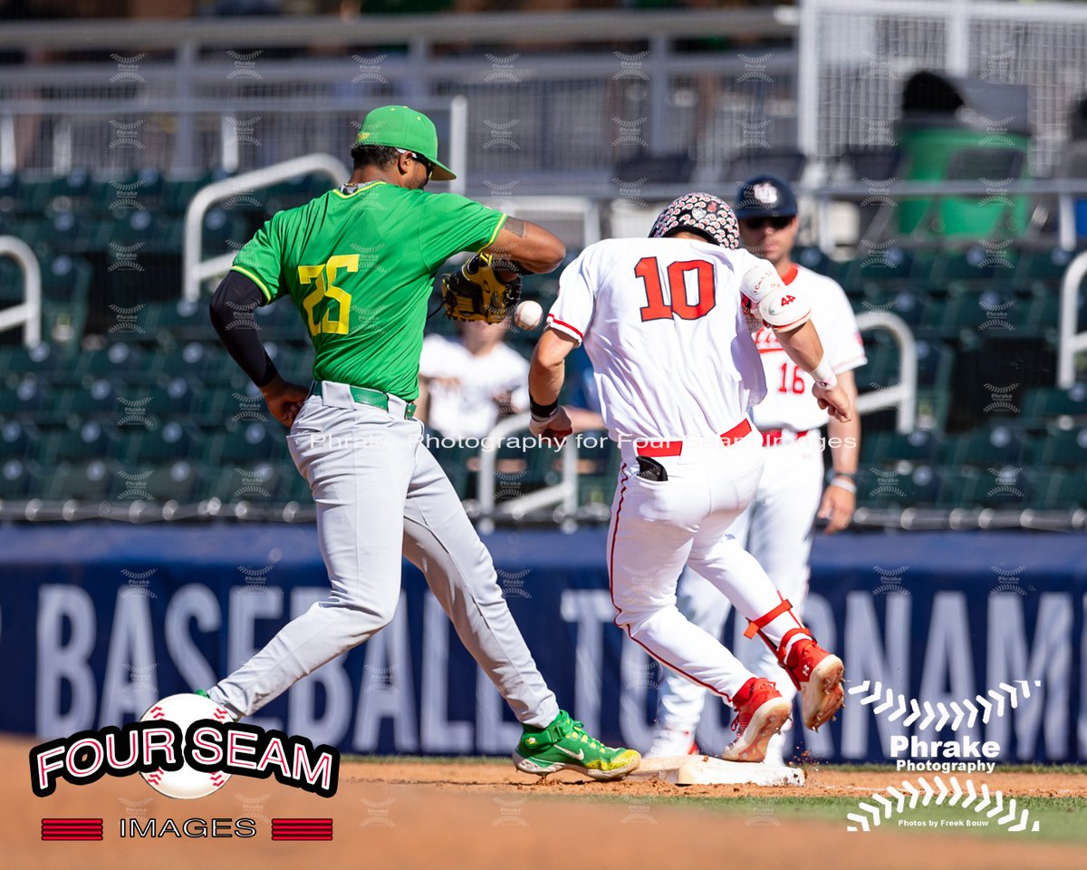
{"type": "Polygon", "coordinates": [[[195,302],[200,298],[200,282],[226,274],[236,251],[201,260],[203,247],[203,219],[208,210],[239,194],[248,194],[299,175],[327,175],[334,184],[342,184],[350,176],[347,166],[328,154],[310,154],[276,163],[262,170],[247,172],[234,178],[215,182],[201,188],[185,212],[185,253],[183,261],[182,298],[195,302]]]}

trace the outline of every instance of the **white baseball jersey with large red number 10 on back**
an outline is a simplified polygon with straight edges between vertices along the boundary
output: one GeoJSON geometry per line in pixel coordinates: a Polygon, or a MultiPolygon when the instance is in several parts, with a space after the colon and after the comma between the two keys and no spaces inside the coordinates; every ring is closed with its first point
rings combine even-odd
{"type": "Polygon", "coordinates": [[[773,272],[708,241],[623,238],[590,245],[563,270],[548,325],[584,341],[612,438],[712,438],[762,400],[740,294],[758,301],[784,288],[761,266],[773,272]],[[760,288],[741,287],[753,274],[760,288]]]}

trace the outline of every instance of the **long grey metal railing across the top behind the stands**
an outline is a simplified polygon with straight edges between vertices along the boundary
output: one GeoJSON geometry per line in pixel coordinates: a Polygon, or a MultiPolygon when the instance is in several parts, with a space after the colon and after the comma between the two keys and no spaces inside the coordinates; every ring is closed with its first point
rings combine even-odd
{"type": "MultiPolygon", "coordinates": [[[[337,153],[336,141],[346,151],[374,105],[429,111],[457,97],[472,103],[462,132],[478,192],[490,182],[550,194],[557,174],[577,192],[578,177],[602,188],[642,149],[691,151],[712,170],[736,149],[795,140],[796,53],[676,41],[788,41],[796,25],[792,8],[8,24],[0,49],[78,47],[115,62],[7,69],[0,171],[245,170],[337,153]],[[447,50],[458,40],[497,48],[447,50]],[[290,47],[299,57],[283,59],[290,47]]],[[[455,119],[435,122],[455,139],[455,119]]]]}

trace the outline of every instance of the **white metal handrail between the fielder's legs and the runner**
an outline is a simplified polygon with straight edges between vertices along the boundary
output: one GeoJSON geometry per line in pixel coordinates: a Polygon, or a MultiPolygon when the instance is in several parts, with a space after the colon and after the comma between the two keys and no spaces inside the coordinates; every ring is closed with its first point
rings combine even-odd
{"type": "Polygon", "coordinates": [[[545,486],[527,495],[496,501],[495,471],[498,464],[498,448],[514,433],[528,432],[532,414],[516,414],[500,420],[483,439],[479,449],[479,531],[489,534],[495,530],[496,520],[521,520],[530,513],[553,508],[554,519],[564,527],[577,515],[577,438],[566,438],[560,453],[562,456],[562,478],[553,486],[545,486]]]}

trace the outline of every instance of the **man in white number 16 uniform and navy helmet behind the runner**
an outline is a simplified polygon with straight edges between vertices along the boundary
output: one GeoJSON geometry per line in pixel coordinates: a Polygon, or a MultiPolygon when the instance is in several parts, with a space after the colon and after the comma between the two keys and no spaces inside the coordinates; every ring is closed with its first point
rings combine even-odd
{"type": "MultiPolygon", "coordinates": [[[[853,369],[866,362],[857,318],[836,282],[792,262],[798,226],[792,190],[780,178],[758,175],[740,185],[736,203],[744,246],[772,262],[789,289],[803,293],[838,384],[855,402],[853,369]]],[[[855,415],[842,422],[820,409],[811,395],[812,378],[789,359],[773,330],[760,326],[754,338],[766,378],[766,398],[751,409],[751,419],[762,432],[766,459],[755,497],[729,533],[746,544],[778,592],[802,613],[816,513],[827,520],[828,534],[848,526],[853,515],[861,424],[855,415]],[[834,476],[824,493],[820,427],[825,424],[834,476]]],[[[691,622],[714,637],[721,636],[729,602],[709,581],[687,569],[679,581],[678,599],[680,612],[691,622]]],[[[747,650],[741,657],[753,661],[760,673],[773,674],[782,695],[791,700],[794,687],[777,670],[775,658],[761,645],[757,649],[758,657],[742,656],[747,650]]],[[[697,751],[695,732],[705,695],[701,686],[671,672],[664,674],[650,755],[697,751]]],[[[786,726],[770,742],[767,763],[783,763],[785,750],[791,748],[788,733],[786,726]]]]}

